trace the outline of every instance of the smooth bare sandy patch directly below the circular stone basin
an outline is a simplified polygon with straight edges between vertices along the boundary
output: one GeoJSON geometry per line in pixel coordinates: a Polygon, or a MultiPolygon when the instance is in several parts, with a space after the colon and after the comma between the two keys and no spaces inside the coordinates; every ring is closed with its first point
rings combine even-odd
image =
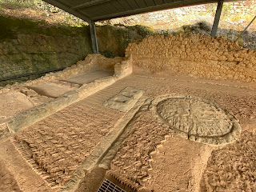
{"type": "Polygon", "coordinates": [[[211,151],[211,147],[198,142],[168,138],[153,156],[152,179],[146,183],[146,188],[154,191],[198,191],[211,151]]]}

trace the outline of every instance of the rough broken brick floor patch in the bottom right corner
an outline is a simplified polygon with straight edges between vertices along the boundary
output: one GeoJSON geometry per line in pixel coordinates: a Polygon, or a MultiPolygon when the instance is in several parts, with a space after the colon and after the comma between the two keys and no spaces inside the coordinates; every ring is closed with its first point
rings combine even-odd
{"type": "Polygon", "coordinates": [[[246,130],[238,142],[214,150],[202,177],[202,191],[255,191],[255,146],[255,134],[246,130]]]}

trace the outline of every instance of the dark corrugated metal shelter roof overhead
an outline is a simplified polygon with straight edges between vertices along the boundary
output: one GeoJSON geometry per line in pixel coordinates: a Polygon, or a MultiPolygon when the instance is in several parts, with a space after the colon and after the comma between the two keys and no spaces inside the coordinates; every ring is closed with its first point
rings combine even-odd
{"type": "MultiPolygon", "coordinates": [[[[194,6],[219,2],[218,0],[44,0],[85,21],[100,21],[110,18],[167,10],[182,6],[194,6]]],[[[234,2],[226,0],[225,2],[234,2]]]]}

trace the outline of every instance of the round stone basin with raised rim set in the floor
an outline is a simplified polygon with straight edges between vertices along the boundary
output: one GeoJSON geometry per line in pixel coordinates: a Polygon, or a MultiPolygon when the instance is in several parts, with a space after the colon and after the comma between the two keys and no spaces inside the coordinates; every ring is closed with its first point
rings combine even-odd
{"type": "Polygon", "coordinates": [[[190,96],[162,96],[154,101],[154,113],[183,137],[214,145],[233,142],[240,133],[234,115],[214,102],[190,96]]]}

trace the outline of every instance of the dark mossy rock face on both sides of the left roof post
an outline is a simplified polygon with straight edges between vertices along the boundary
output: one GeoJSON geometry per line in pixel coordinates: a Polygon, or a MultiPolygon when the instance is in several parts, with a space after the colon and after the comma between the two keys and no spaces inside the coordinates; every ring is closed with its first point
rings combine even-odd
{"type": "MultiPolygon", "coordinates": [[[[66,68],[93,52],[89,26],[49,26],[1,16],[0,26],[0,79],[66,68]]],[[[108,58],[124,56],[129,42],[147,34],[150,32],[144,26],[98,26],[99,52],[108,58]]],[[[0,86],[32,78],[0,82],[0,86]]]]}

